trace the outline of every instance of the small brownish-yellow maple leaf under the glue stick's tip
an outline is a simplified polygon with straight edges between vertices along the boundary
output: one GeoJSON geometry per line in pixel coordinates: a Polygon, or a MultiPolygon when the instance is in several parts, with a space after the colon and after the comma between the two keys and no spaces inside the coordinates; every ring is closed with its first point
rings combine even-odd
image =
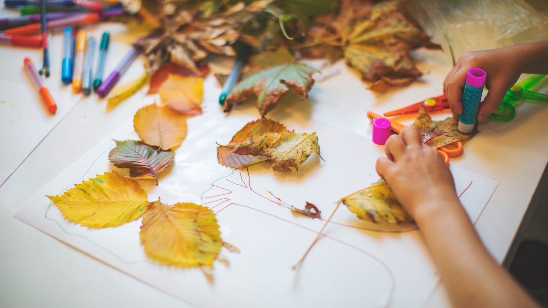
{"type": "Polygon", "coordinates": [[[423,144],[434,149],[455,141],[470,138],[469,134],[461,133],[457,129],[458,121],[452,117],[448,117],[443,121],[432,121],[432,118],[422,105],[416,114],[413,124],[419,128],[423,144]]]}

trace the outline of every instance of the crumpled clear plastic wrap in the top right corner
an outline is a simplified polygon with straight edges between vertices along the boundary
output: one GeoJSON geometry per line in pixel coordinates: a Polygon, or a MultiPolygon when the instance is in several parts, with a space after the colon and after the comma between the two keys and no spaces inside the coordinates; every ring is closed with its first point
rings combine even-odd
{"type": "Polygon", "coordinates": [[[408,0],[407,8],[433,42],[452,47],[456,60],[471,50],[548,39],[548,1],[528,1],[408,0]]]}

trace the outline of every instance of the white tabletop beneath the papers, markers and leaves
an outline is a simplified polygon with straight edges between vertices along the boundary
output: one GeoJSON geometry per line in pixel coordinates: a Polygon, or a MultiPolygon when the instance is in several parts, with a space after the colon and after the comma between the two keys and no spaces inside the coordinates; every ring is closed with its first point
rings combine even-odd
{"type": "MultiPolygon", "coordinates": [[[[0,16],[8,15],[5,10],[0,16]]],[[[91,28],[96,38],[108,29],[122,33],[119,25],[91,28]]],[[[117,37],[116,35],[114,37],[117,37]]],[[[50,88],[70,91],[60,83],[62,38],[50,40],[52,76],[50,88]]],[[[112,39],[105,72],[110,72],[129,50],[129,44],[112,39]]],[[[26,83],[22,59],[41,60],[41,51],[0,46],[0,82],[26,83]]],[[[341,73],[317,82],[310,100],[285,101],[270,118],[283,121],[292,113],[370,136],[368,110],[382,113],[441,94],[444,76],[450,70],[450,56],[419,50],[413,53],[418,68],[425,72],[410,87],[386,94],[372,94],[355,75],[339,63],[341,73]]],[[[136,61],[121,84],[143,71],[136,61]]],[[[218,108],[220,88],[213,79],[206,82],[204,106],[218,108]]],[[[70,166],[90,147],[139,109],[147,99],[132,98],[112,111],[96,96],[75,95],[73,110],[39,144],[21,166],[0,187],[0,304],[3,307],[185,307],[185,302],[138,281],[93,257],[76,250],[13,218],[24,201],[70,166]]],[[[244,106],[252,110],[250,106],[244,106]]],[[[221,111],[219,111],[221,112],[221,111]]],[[[452,159],[454,166],[500,181],[476,223],[476,230],[489,252],[501,263],[527,210],[540,176],[548,162],[548,109],[534,104],[517,108],[510,123],[487,121],[481,133],[465,142],[464,153],[452,159]]],[[[258,113],[257,113],[258,115],[258,113]]],[[[443,116],[437,116],[443,118],[443,116]]],[[[411,122],[409,119],[407,123],[411,122]]],[[[1,141],[1,136],[0,136],[1,141]]],[[[1,142],[0,142],[1,144],[1,142]]],[[[374,163],[374,162],[372,162],[374,163]]],[[[426,306],[446,306],[443,288],[438,288],[426,306]]]]}

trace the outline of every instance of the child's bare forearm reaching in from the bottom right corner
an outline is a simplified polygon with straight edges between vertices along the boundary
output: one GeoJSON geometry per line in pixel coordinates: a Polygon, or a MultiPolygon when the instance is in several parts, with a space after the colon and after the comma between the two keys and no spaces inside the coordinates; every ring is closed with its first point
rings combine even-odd
{"type": "Polygon", "coordinates": [[[457,200],[415,217],[455,307],[537,307],[487,252],[457,200]]]}

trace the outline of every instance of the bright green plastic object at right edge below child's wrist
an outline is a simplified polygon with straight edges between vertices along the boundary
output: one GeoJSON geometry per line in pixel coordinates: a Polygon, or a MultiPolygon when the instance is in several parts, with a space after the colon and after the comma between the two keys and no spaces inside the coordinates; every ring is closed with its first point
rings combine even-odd
{"type": "Polygon", "coordinates": [[[521,82],[516,83],[506,95],[499,106],[499,110],[492,113],[489,118],[497,122],[510,122],[516,117],[516,105],[522,101],[548,102],[548,95],[534,92],[533,88],[538,85],[546,75],[533,75],[521,82]]]}

